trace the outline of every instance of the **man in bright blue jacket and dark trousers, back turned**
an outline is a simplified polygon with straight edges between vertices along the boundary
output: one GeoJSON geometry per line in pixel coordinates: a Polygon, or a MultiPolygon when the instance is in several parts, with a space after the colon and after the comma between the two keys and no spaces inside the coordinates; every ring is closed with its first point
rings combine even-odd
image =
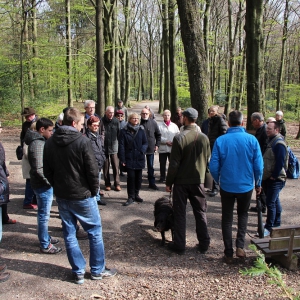
{"type": "Polygon", "coordinates": [[[248,209],[253,188],[261,192],[263,159],[257,139],[243,128],[243,114],[229,114],[229,128],[220,136],[212,151],[210,172],[220,184],[222,203],[222,235],[225,246],[224,260],[233,263],[232,221],[235,199],[237,199],[238,231],[236,256],[245,258],[243,250],[248,223],[248,209]]]}

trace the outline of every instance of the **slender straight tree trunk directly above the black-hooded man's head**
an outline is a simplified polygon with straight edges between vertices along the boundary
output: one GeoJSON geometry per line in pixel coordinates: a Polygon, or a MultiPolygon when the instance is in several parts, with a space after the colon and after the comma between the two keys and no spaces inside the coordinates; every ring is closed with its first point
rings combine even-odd
{"type": "Polygon", "coordinates": [[[73,106],[72,95],[72,36],[71,36],[71,8],[70,0],[65,0],[66,9],[66,67],[67,67],[67,92],[68,106],[73,106]]]}

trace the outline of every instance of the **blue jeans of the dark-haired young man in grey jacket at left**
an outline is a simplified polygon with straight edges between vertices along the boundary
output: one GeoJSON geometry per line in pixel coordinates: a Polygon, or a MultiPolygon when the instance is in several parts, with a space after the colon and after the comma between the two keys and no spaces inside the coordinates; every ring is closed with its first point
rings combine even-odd
{"type": "Polygon", "coordinates": [[[38,238],[41,248],[48,248],[51,236],[48,233],[48,223],[50,219],[50,210],[53,201],[53,188],[42,187],[34,190],[38,203],[37,223],[38,238]]]}

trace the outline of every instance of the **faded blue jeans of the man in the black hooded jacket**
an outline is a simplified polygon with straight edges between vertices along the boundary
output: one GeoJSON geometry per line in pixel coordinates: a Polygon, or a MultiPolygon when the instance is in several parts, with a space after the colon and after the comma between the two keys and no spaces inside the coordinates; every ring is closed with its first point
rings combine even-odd
{"type": "Polygon", "coordinates": [[[90,267],[92,274],[99,274],[105,268],[104,243],[99,209],[95,197],[83,200],[56,198],[62,221],[65,245],[72,272],[84,274],[86,261],[76,238],[76,223],[80,222],[88,233],[90,242],[90,267]]]}

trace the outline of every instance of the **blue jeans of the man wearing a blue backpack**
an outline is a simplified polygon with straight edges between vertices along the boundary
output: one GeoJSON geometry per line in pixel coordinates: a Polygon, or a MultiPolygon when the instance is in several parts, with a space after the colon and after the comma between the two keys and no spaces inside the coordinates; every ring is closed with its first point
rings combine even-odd
{"type": "Polygon", "coordinates": [[[279,193],[284,188],[285,181],[267,179],[263,181],[263,189],[266,194],[267,220],[265,228],[269,231],[272,227],[281,225],[281,204],[279,193]]]}

